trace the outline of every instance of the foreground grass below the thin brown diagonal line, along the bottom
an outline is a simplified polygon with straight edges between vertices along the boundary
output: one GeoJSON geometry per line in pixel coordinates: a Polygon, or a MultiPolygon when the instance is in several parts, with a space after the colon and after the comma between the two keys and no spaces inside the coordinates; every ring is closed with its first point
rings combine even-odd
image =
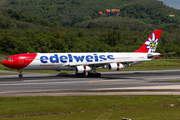
{"type": "Polygon", "coordinates": [[[145,108],[121,111],[97,111],[88,113],[33,116],[25,118],[18,117],[13,118],[13,120],[121,120],[122,117],[131,118],[131,120],[179,120],[179,109],[180,107],[145,108]]]}

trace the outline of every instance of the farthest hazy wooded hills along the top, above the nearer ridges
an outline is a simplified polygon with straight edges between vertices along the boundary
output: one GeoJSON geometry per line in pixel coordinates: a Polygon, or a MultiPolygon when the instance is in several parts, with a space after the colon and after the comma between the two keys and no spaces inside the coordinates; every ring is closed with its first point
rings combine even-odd
{"type": "Polygon", "coordinates": [[[98,18],[98,11],[106,9],[120,9],[122,17],[150,24],[180,23],[180,11],[157,0],[1,0],[0,7],[57,20],[63,26],[98,18]]]}

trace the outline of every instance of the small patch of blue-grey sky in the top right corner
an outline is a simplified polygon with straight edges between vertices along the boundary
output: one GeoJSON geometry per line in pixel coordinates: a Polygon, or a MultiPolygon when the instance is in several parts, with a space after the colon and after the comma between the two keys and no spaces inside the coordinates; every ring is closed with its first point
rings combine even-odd
{"type": "Polygon", "coordinates": [[[175,9],[180,9],[180,0],[158,0],[164,2],[167,6],[173,7],[175,9]]]}

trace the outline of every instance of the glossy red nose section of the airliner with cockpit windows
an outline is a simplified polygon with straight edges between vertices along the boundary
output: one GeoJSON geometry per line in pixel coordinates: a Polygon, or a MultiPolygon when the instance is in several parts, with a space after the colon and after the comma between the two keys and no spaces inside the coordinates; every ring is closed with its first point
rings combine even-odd
{"type": "Polygon", "coordinates": [[[2,62],[2,64],[6,67],[20,70],[28,66],[36,56],[37,53],[17,54],[8,57],[7,60],[2,62]]]}

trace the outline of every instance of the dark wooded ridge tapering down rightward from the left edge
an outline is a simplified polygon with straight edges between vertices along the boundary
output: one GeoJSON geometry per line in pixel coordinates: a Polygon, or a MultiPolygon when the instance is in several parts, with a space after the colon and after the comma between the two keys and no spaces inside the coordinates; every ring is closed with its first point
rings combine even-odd
{"type": "Polygon", "coordinates": [[[1,29],[36,29],[38,27],[61,26],[56,21],[49,21],[32,15],[14,11],[12,9],[0,9],[0,28],[1,29]]]}

